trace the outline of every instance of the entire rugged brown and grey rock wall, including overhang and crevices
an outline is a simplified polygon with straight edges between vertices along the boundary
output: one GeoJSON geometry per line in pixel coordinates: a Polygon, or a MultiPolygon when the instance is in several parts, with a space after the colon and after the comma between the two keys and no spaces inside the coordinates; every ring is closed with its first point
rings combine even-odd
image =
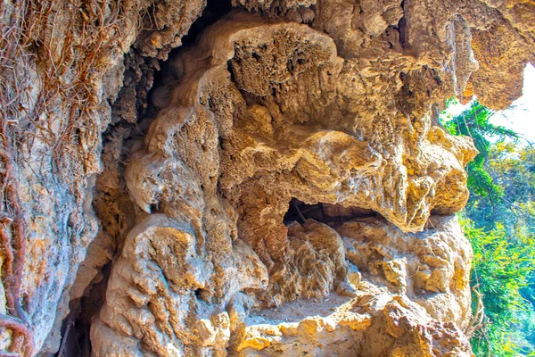
{"type": "Polygon", "coordinates": [[[472,355],[436,118],[521,95],[533,1],[0,8],[1,350],[472,355]]]}

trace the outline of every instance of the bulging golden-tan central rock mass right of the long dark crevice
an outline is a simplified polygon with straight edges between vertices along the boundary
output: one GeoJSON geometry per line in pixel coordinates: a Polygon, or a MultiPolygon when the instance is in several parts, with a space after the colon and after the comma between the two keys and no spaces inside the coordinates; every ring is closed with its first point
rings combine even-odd
{"type": "Polygon", "coordinates": [[[169,71],[179,75],[154,91],[158,115],[125,171],[137,216],[146,217],[112,263],[91,327],[96,355],[317,354],[323,333],[333,339],[327,345],[343,336],[352,340],[348,353],[374,355],[401,336],[410,344],[440,329],[446,342],[418,348],[470,351],[462,333],[470,246],[455,219],[429,218],[464,206],[464,165],[475,151],[432,126],[429,106],[403,102],[407,87],[425,85],[426,70],[368,94],[361,73],[372,68],[338,56],[331,37],[233,12],[172,58],[169,71]],[[371,118],[363,115],[370,108],[371,118]],[[377,217],[284,222],[291,201],[377,217]],[[272,341],[243,320],[332,293],[357,299],[328,322],[347,322],[336,336],[319,320],[312,335],[298,323],[272,341]],[[366,296],[377,304],[367,308],[366,296]],[[353,313],[358,306],[367,312],[353,313]],[[367,341],[378,324],[396,327],[374,350],[367,341]],[[284,346],[290,336],[309,347],[284,346]]]}

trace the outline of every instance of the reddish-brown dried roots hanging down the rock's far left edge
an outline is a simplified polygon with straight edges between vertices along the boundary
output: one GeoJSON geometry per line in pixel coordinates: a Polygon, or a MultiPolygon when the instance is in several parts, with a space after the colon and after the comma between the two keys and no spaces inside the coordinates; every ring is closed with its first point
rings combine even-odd
{"type": "MultiPolygon", "coordinates": [[[[18,153],[13,123],[21,120],[21,103],[24,103],[24,85],[21,85],[19,70],[24,68],[21,55],[23,44],[24,14],[29,9],[28,1],[14,3],[9,23],[0,27],[0,249],[4,254],[2,281],[6,313],[0,314],[0,328],[12,331],[9,351],[1,356],[31,356],[33,334],[27,314],[21,306],[21,281],[26,256],[26,225],[18,182],[15,172],[15,157],[18,153]]],[[[0,10],[8,14],[7,8],[0,10]]]]}

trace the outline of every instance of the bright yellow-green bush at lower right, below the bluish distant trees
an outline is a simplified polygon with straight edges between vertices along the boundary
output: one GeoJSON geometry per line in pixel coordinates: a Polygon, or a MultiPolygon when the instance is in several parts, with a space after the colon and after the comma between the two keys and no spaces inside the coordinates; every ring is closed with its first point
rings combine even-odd
{"type": "Polygon", "coordinates": [[[522,232],[511,237],[502,223],[485,231],[465,217],[460,221],[473,247],[471,278],[479,286],[487,315],[486,325],[473,336],[473,352],[481,356],[530,353],[525,337],[534,331],[532,305],[521,290],[535,270],[535,238],[522,232]]]}

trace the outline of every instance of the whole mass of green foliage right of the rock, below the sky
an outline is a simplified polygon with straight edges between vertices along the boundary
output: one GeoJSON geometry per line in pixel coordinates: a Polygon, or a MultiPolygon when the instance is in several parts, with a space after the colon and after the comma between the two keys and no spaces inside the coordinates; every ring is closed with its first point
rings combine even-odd
{"type": "Polygon", "coordinates": [[[442,122],[451,134],[472,137],[479,150],[466,168],[471,195],[460,220],[473,245],[471,283],[486,314],[473,351],[535,356],[535,149],[490,123],[492,114],[473,102],[442,122]]]}

